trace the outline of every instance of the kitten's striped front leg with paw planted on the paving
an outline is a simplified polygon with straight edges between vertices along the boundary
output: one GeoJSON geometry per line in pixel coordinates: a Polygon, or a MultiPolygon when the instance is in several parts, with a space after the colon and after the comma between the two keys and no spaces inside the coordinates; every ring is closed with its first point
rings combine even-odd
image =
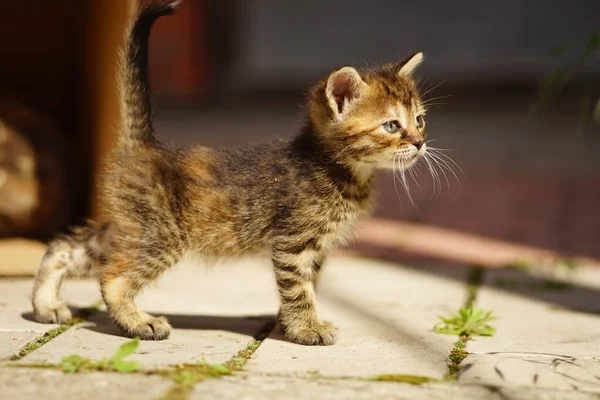
{"type": "Polygon", "coordinates": [[[294,343],[332,345],[335,327],[317,317],[315,281],[324,257],[312,249],[297,252],[274,251],[275,279],[281,298],[279,322],[294,343]]]}

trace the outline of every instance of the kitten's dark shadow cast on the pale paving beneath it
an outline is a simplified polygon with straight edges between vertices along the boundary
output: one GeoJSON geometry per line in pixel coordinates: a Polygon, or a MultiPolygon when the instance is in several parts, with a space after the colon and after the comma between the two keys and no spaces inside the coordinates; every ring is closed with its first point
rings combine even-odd
{"type": "MultiPolygon", "coordinates": [[[[81,316],[81,309],[70,307],[74,316],[81,316]]],[[[281,329],[276,324],[275,315],[252,315],[252,316],[216,316],[216,315],[182,315],[162,314],[152,315],[164,316],[175,329],[226,331],[252,336],[255,339],[269,339],[287,341],[281,329]]],[[[37,322],[33,313],[23,313],[22,317],[28,321],[37,322]]],[[[111,321],[106,311],[97,311],[86,316],[86,321],[91,324],[83,324],[81,329],[102,333],[111,336],[123,336],[121,330],[111,321]]]]}

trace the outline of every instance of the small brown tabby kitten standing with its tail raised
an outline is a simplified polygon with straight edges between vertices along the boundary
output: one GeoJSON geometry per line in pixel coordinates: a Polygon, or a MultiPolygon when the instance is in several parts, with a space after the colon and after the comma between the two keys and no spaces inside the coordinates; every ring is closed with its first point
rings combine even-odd
{"type": "Polygon", "coordinates": [[[171,327],[134,303],[185,255],[236,257],[268,250],[287,338],[331,345],[316,313],[327,251],[371,209],[373,176],[425,153],[425,109],[412,79],[423,55],[378,69],[343,67],[310,93],[304,129],[289,141],[237,150],[172,149],[154,136],[147,82],[153,22],[178,1],[151,1],[127,30],[120,64],[123,126],[103,177],[108,224],[50,244],[33,306],[42,322],[71,318],[58,298],[65,276],[97,273],[108,312],[126,335],[161,340],[171,327]]]}

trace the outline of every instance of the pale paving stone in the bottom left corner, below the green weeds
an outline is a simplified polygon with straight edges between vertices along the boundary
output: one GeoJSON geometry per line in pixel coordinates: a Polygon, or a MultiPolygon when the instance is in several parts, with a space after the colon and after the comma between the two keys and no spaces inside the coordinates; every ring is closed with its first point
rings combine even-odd
{"type": "Polygon", "coordinates": [[[167,379],[138,374],[0,368],[0,400],[148,400],[160,398],[171,385],[167,379]]]}

